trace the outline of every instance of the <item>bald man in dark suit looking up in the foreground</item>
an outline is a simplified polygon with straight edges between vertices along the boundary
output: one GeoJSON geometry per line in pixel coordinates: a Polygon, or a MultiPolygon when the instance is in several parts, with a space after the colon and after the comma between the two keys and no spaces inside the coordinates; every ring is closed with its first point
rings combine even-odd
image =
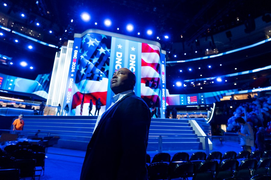
{"type": "Polygon", "coordinates": [[[87,147],[80,180],[146,180],[146,149],[151,113],[133,91],[136,76],[114,72],[111,106],[102,114],[87,147]]]}

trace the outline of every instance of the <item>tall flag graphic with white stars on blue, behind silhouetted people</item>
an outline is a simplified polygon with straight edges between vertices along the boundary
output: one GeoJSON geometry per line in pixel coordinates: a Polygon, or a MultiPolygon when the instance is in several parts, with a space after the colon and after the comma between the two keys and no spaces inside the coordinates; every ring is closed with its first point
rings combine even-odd
{"type": "Polygon", "coordinates": [[[94,107],[92,111],[95,111],[95,102],[98,98],[101,98],[102,104],[100,114],[105,111],[110,49],[110,36],[89,33],[82,38],[71,115],[81,115],[81,109],[82,115],[88,115],[90,99],[94,107]]]}

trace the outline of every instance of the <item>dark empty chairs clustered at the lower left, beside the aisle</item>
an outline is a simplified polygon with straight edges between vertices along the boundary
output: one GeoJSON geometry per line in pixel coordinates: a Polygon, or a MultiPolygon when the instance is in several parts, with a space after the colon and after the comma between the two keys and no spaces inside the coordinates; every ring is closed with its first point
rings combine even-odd
{"type": "Polygon", "coordinates": [[[40,178],[44,170],[45,147],[42,145],[23,142],[0,151],[0,179],[40,178]]]}

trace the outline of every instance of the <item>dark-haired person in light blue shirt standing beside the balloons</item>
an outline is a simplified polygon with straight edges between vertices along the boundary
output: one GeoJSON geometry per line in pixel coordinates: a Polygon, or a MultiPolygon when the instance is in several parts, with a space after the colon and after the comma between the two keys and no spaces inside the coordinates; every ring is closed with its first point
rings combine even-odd
{"type": "Polygon", "coordinates": [[[237,117],[235,122],[241,125],[240,132],[237,132],[241,137],[240,145],[244,151],[247,150],[251,153],[251,147],[254,147],[254,135],[251,126],[242,117],[237,117]]]}

